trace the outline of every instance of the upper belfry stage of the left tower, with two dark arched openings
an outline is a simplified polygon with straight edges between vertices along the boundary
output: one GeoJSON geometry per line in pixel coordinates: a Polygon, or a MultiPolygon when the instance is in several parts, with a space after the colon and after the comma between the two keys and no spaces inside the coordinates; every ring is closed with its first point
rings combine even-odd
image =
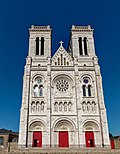
{"type": "Polygon", "coordinates": [[[29,56],[40,59],[51,57],[50,26],[31,26],[29,29],[29,56]]]}

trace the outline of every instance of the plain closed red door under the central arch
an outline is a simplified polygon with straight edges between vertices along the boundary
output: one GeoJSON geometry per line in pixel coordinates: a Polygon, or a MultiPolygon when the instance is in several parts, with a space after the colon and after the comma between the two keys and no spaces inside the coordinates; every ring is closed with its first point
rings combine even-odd
{"type": "Polygon", "coordinates": [[[69,147],[68,131],[59,132],[59,147],[69,147]]]}

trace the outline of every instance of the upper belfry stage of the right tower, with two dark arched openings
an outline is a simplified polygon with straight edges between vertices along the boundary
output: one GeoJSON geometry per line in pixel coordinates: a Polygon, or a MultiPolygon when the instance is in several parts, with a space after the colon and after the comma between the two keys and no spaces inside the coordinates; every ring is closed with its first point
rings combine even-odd
{"type": "Polygon", "coordinates": [[[70,44],[68,52],[73,57],[93,57],[95,56],[93,29],[91,26],[72,25],[70,44]]]}

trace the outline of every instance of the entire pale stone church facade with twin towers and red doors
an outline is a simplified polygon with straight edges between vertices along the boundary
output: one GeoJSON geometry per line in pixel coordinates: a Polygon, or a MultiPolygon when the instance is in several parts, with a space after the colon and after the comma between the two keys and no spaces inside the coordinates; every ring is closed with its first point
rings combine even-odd
{"type": "Polygon", "coordinates": [[[110,147],[93,29],[73,25],[51,56],[50,26],[31,26],[19,147],[110,147]]]}

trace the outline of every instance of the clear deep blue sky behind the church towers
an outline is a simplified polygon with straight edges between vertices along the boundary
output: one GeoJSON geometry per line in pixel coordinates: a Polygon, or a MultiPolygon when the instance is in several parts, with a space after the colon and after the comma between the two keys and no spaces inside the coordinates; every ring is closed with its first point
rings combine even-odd
{"type": "Polygon", "coordinates": [[[119,6],[119,0],[1,0],[0,128],[19,129],[28,28],[51,25],[54,53],[61,40],[67,49],[71,25],[91,25],[103,77],[109,131],[120,135],[119,6]]]}

